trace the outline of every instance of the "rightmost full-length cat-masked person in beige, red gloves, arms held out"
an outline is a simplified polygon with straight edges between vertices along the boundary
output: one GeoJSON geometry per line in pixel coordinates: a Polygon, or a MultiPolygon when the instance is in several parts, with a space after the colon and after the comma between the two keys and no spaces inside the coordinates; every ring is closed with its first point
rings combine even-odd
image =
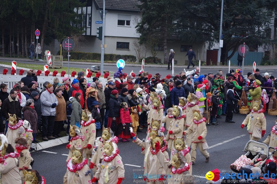
{"type": "Polygon", "coordinates": [[[250,140],[259,141],[266,133],[267,121],[263,112],[263,106],[259,101],[252,102],[251,112],[241,124],[241,128],[247,126],[250,140]]]}

